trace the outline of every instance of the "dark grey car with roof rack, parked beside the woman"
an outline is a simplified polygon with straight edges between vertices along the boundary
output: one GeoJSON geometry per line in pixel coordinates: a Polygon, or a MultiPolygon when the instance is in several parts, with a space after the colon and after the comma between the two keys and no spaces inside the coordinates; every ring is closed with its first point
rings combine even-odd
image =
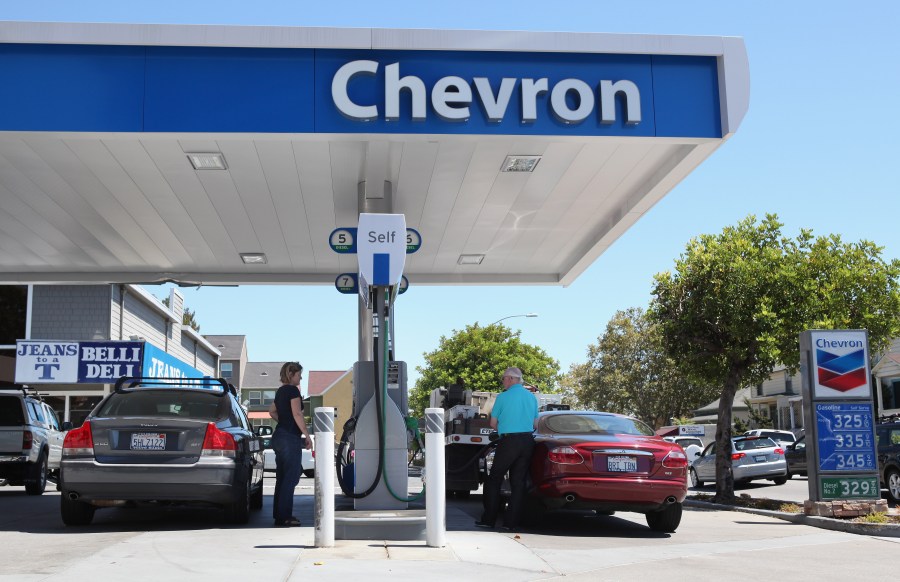
{"type": "Polygon", "coordinates": [[[246,523],[263,504],[263,458],[224,380],[122,378],[66,436],[60,474],[66,525],[98,507],[202,503],[246,523]]]}

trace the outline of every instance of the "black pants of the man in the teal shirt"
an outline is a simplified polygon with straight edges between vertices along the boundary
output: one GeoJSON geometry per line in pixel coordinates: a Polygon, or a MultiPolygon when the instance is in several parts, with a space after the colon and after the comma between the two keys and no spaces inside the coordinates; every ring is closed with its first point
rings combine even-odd
{"type": "Polygon", "coordinates": [[[528,467],[531,465],[532,451],[534,451],[534,437],[530,432],[508,434],[500,439],[494,453],[491,472],[484,484],[482,523],[494,525],[497,521],[497,514],[500,512],[500,487],[503,485],[503,476],[509,471],[512,496],[503,517],[503,525],[511,528],[519,525],[522,506],[525,503],[525,481],[528,467]]]}

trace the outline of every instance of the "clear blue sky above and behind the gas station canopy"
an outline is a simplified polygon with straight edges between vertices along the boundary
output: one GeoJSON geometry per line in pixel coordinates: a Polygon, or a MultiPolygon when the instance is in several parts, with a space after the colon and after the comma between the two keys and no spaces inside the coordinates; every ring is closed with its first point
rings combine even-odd
{"type": "MultiPolygon", "coordinates": [[[[0,0],[0,19],[743,37],[752,88],[738,132],[570,287],[413,286],[399,298],[397,352],[411,380],[442,335],[527,312],[539,317],[505,323],[565,371],[585,359],[617,310],[647,306],[653,275],[670,269],[691,237],[748,214],[777,214],[789,235],[811,228],[845,241],[866,238],[885,247],[885,257],[900,256],[896,0],[0,0]]],[[[201,333],[245,334],[251,360],[341,370],[356,359],[356,299],[333,287],[183,292],[201,333]]]]}

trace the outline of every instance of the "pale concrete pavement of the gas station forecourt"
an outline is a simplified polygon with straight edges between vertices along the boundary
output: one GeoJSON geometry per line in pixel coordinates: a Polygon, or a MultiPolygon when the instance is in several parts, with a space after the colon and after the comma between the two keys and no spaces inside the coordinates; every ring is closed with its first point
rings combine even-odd
{"type": "MultiPolygon", "coordinates": [[[[267,480],[268,481],[268,480],[267,480]]],[[[687,507],[678,532],[644,517],[557,514],[519,534],[476,530],[481,498],[448,500],[447,546],[338,540],[315,548],[312,481],[301,480],[303,527],[273,528],[271,488],[243,527],[211,509],[104,509],[66,528],[59,497],[0,489],[0,581],[66,580],[840,580],[895,575],[894,538],[834,532],[775,517],[687,507]]]]}

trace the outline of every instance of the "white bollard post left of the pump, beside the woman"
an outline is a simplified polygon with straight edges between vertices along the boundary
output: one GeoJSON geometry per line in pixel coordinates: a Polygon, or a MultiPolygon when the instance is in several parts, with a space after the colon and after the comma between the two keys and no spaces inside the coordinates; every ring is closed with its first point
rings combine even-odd
{"type": "Polygon", "coordinates": [[[334,408],[316,408],[315,542],[317,548],[334,547],[334,408]]]}

